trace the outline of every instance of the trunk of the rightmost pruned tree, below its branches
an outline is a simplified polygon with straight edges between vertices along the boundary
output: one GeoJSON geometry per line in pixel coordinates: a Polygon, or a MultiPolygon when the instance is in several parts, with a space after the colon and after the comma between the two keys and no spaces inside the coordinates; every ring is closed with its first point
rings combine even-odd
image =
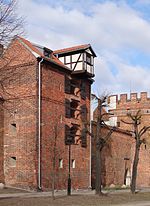
{"type": "Polygon", "coordinates": [[[131,180],[132,194],[135,194],[135,190],[136,190],[137,166],[138,166],[138,162],[139,162],[139,152],[140,152],[140,143],[138,141],[136,141],[135,156],[134,156],[134,162],[133,162],[133,167],[132,167],[132,180],[131,180]]]}

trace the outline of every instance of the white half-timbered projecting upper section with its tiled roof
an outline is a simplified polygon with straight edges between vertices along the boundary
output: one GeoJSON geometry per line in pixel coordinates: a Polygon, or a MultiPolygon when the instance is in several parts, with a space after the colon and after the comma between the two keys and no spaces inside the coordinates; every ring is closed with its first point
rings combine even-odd
{"type": "Polygon", "coordinates": [[[89,77],[94,76],[96,54],[90,44],[56,50],[54,55],[73,73],[86,73],[89,77]]]}

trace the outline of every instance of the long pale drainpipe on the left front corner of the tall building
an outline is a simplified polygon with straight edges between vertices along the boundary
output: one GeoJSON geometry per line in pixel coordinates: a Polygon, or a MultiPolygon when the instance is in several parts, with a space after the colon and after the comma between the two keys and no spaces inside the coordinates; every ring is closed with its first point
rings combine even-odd
{"type": "Polygon", "coordinates": [[[41,63],[43,59],[39,61],[39,86],[38,86],[38,189],[41,190],[41,63]]]}

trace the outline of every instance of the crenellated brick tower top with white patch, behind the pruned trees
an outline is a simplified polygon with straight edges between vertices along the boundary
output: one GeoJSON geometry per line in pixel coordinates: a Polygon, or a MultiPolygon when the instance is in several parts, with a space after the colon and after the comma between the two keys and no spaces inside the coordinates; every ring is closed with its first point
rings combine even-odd
{"type": "MultiPolygon", "coordinates": [[[[110,117],[111,124],[126,128],[121,120],[127,119],[127,113],[134,114],[138,110],[141,110],[143,115],[143,124],[149,125],[150,120],[150,97],[147,92],[131,93],[130,96],[127,94],[112,95],[108,99],[109,111],[113,113],[110,117]]],[[[127,126],[128,127],[128,126],[127,126]]]]}

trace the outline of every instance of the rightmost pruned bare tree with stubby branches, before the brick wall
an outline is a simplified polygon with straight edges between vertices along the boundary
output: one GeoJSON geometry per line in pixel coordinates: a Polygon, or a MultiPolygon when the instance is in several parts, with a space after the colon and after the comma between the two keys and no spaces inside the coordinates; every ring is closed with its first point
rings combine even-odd
{"type": "Polygon", "coordinates": [[[134,161],[132,167],[132,180],[131,180],[131,192],[132,194],[134,194],[136,190],[137,167],[139,162],[140,147],[142,144],[146,144],[146,139],[143,138],[143,135],[148,130],[150,130],[150,126],[143,126],[140,129],[141,118],[142,118],[142,114],[140,110],[138,110],[136,114],[128,113],[127,116],[130,118],[130,122],[124,120],[122,120],[122,122],[124,122],[125,124],[132,125],[133,130],[131,130],[130,132],[133,134],[133,137],[135,139],[135,154],[134,154],[134,161]]]}

